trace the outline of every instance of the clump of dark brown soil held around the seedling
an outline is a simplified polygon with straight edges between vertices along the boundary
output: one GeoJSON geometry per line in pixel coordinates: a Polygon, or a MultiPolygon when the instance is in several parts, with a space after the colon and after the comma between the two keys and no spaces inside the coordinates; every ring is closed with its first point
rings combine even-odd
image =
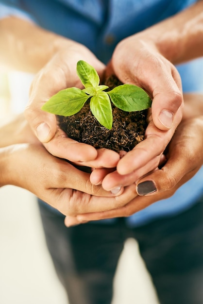
{"type": "MultiPolygon", "coordinates": [[[[115,76],[111,76],[105,84],[111,90],[121,83],[115,76]]],[[[88,101],[78,113],[69,117],[58,116],[59,126],[68,137],[79,142],[92,145],[95,148],[128,152],[144,139],[148,125],[148,110],[125,112],[113,104],[111,105],[113,113],[111,130],[103,127],[92,115],[88,101]]]]}

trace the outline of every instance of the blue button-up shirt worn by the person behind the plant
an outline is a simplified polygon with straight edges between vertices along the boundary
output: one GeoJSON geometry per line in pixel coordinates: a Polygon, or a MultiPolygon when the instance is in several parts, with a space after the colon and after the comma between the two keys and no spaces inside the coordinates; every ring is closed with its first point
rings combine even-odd
{"type": "MultiPolygon", "coordinates": [[[[27,18],[80,42],[107,63],[120,40],[170,17],[195,0],[0,0],[0,17],[27,18]]],[[[32,33],[31,33],[32,34],[32,33]]],[[[203,59],[177,67],[184,92],[203,92],[203,59]]],[[[203,167],[169,199],[135,213],[129,225],[177,214],[203,194],[203,167]]],[[[108,222],[108,220],[105,220],[108,222]]]]}

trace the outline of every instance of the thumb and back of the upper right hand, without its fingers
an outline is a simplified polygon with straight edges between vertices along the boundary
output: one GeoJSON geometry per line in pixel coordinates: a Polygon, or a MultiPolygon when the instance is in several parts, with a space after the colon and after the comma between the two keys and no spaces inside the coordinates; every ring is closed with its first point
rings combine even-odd
{"type": "Polygon", "coordinates": [[[107,72],[113,70],[121,82],[142,87],[152,98],[155,126],[167,131],[181,121],[181,78],[150,35],[151,31],[146,30],[122,40],[113,53],[107,72]]]}

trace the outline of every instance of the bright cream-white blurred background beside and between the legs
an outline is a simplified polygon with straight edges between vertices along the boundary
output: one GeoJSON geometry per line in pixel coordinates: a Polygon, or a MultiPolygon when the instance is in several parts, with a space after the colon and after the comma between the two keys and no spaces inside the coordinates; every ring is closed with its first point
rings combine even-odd
{"type": "MultiPolygon", "coordinates": [[[[0,125],[21,113],[33,75],[0,71],[0,125]]],[[[137,243],[128,239],[115,276],[112,304],[158,304],[137,243]]],[[[67,304],[46,247],[32,193],[0,188],[0,304],[67,304]]]]}

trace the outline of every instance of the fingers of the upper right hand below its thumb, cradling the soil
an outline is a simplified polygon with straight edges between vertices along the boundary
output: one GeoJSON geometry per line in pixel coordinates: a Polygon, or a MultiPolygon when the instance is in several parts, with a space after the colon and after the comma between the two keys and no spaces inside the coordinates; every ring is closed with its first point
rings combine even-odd
{"type": "Polygon", "coordinates": [[[105,190],[111,190],[135,183],[159,166],[163,152],[174,132],[174,125],[169,131],[159,130],[150,115],[144,140],[121,157],[115,170],[95,169],[90,176],[92,184],[102,184],[105,190]]]}

